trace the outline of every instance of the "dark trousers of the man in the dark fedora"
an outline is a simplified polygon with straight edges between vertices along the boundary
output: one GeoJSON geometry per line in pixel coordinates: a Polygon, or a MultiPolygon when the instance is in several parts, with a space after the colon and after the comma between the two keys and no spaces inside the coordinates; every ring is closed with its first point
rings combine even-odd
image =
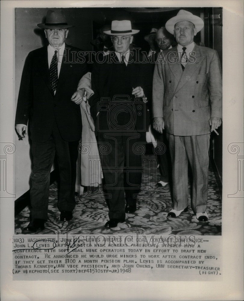
{"type": "Polygon", "coordinates": [[[75,202],[76,160],[78,142],[64,141],[60,136],[56,123],[51,136],[45,142],[32,141],[33,169],[30,175],[31,218],[48,218],[48,195],[50,171],[57,155],[60,175],[58,208],[60,211],[73,211],[75,202]]]}

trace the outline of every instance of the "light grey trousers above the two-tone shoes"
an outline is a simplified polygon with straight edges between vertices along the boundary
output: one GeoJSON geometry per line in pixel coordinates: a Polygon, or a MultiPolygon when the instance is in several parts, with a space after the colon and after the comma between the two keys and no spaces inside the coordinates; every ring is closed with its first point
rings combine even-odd
{"type": "Polygon", "coordinates": [[[173,209],[188,206],[188,160],[193,174],[192,209],[205,212],[208,197],[208,149],[210,135],[174,136],[167,134],[172,159],[173,209]]]}

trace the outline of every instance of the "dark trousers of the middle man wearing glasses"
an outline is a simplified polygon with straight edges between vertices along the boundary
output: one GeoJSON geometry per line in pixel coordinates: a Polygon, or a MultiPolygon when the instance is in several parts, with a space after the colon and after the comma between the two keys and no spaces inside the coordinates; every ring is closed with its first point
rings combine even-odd
{"type": "Polygon", "coordinates": [[[125,219],[125,197],[130,205],[136,201],[142,178],[142,149],[139,145],[144,140],[144,133],[98,132],[110,219],[125,219]]]}

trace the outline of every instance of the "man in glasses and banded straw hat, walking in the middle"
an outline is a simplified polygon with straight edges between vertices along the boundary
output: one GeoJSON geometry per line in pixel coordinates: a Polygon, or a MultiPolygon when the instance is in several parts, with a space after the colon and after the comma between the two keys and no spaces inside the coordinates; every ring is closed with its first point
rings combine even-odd
{"type": "Polygon", "coordinates": [[[138,32],[131,29],[128,20],[112,21],[111,30],[104,33],[111,36],[115,51],[103,63],[94,64],[91,74],[94,95],[89,104],[91,115],[97,120],[104,188],[109,195],[109,221],[105,228],[116,227],[125,221],[125,213],[137,209],[136,194],[142,176],[138,147],[145,141],[144,102],[150,85],[145,79],[147,64],[135,63],[129,50],[133,35],[138,32]],[[107,152],[103,151],[106,147],[107,152]]]}

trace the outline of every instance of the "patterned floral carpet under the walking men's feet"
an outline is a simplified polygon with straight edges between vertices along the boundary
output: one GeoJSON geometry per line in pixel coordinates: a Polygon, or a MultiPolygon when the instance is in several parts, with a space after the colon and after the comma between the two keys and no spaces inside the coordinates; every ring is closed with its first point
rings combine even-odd
{"type": "MultiPolygon", "coordinates": [[[[195,235],[221,235],[221,193],[218,189],[214,172],[209,170],[208,175],[208,222],[201,223],[191,210],[190,184],[189,184],[189,211],[176,219],[167,218],[172,208],[171,188],[166,185],[155,190],[159,180],[159,171],[156,168],[144,170],[142,192],[138,196],[137,211],[127,214],[124,223],[116,228],[105,229],[103,225],[108,220],[108,208],[103,193],[88,191],[76,197],[77,205],[73,212],[73,219],[69,222],[59,221],[57,209],[57,183],[50,186],[48,221],[46,227],[38,234],[195,234],[195,235]]],[[[190,183],[190,181],[189,181],[190,183]]],[[[20,234],[22,228],[29,223],[29,208],[23,209],[15,218],[15,233],[20,234]]]]}

